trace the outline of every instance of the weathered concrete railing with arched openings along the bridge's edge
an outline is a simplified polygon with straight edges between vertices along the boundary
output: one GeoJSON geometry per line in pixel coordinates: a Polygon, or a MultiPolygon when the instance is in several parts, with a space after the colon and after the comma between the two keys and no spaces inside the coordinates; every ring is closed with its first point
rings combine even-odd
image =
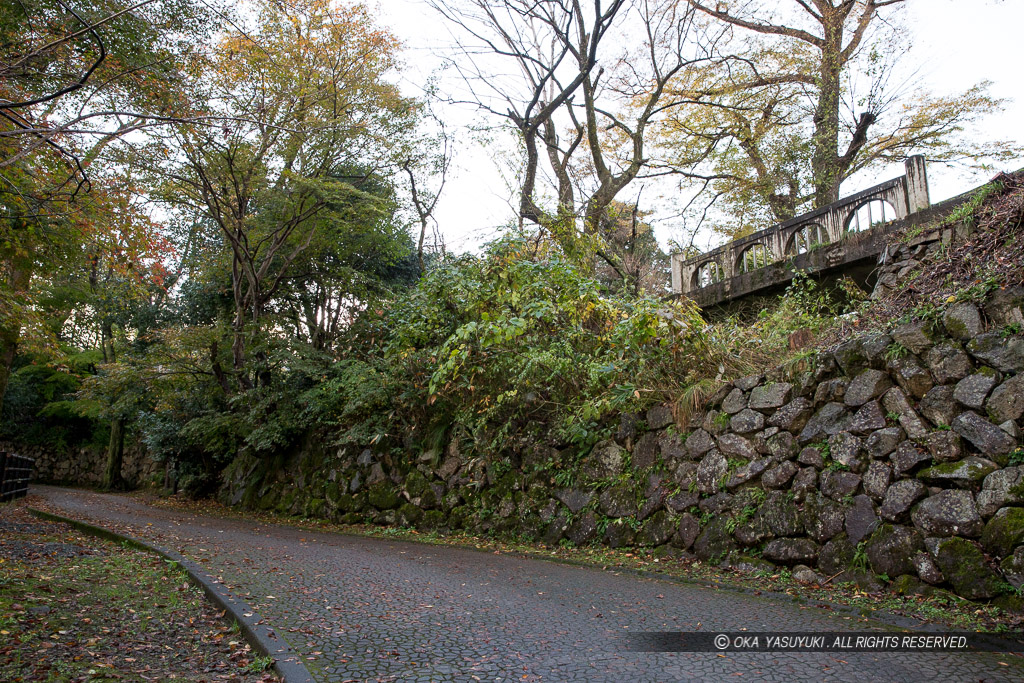
{"type": "Polygon", "coordinates": [[[904,164],[906,175],[888,180],[796,218],[734,240],[710,252],[672,255],[672,289],[693,294],[746,272],[835,244],[873,225],[906,218],[931,206],[924,157],[904,164]]]}

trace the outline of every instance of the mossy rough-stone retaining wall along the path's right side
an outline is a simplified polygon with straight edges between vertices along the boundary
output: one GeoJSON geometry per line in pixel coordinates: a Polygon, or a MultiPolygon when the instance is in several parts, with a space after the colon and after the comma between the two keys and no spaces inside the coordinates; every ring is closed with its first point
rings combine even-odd
{"type": "Polygon", "coordinates": [[[1024,587],[1024,290],[724,387],[677,424],[624,415],[590,453],[314,445],[240,457],[231,504],[547,544],[638,546],[865,590],[1024,587]]]}

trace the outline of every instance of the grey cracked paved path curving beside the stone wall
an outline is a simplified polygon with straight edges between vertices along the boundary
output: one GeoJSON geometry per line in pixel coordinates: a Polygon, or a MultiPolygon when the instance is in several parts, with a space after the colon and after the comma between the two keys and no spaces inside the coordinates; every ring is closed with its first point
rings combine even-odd
{"type": "Polygon", "coordinates": [[[543,560],[188,515],[73,489],[33,493],[55,512],[201,562],[324,681],[1024,680],[1020,657],[993,653],[628,652],[618,636],[630,631],[884,627],[543,560]]]}

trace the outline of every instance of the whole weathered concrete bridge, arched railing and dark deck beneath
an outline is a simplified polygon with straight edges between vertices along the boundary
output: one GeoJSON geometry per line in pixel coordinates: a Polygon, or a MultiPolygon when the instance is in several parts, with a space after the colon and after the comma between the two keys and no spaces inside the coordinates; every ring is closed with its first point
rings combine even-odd
{"type": "Polygon", "coordinates": [[[873,266],[887,236],[931,206],[925,158],[911,157],[905,168],[906,175],[710,252],[688,258],[673,254],[673,291],[710,308],[769,294],[800,270],[873,266]]]}

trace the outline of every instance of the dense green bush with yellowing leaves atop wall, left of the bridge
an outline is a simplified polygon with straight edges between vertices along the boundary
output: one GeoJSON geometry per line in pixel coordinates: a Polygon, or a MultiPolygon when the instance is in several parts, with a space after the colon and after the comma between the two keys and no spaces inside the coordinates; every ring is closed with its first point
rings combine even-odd
{"type": "Polygon", "coordinates": [[[462,425],[480,451],[537,426],[586,450],[605,417],[674,397],[695,306],[607,296],[558,249],[535,249],[510,237],[444,263],[381,317],[385,357],[413,379],[399,412],[462,425]]]}

